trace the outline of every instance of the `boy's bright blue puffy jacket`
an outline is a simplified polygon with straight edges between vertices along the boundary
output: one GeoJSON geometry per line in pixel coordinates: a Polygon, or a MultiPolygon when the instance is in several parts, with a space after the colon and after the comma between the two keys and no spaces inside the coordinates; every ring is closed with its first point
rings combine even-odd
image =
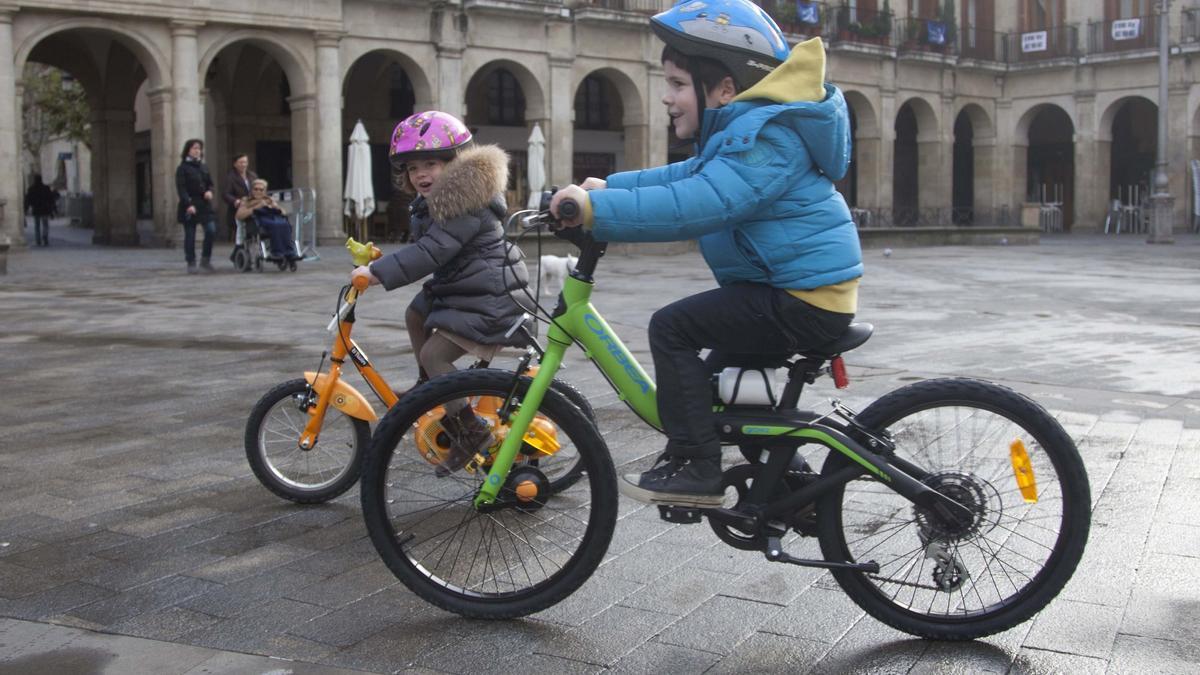
{"type": "Polygon", "coordinates": [[[590,192],[595,238],[700,239],[722,286],[811,289],[863,275],[858,231],[833,185],[850,165],[850,114],[835,86],[822,101],[708,109],[697,144],[690,160],[617,173],[590,192]]]}

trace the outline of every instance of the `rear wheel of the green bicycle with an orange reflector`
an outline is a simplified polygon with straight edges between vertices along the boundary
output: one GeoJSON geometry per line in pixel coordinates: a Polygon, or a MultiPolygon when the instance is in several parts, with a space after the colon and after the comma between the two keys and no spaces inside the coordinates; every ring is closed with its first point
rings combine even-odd
{"type": "MultiPolygon", "coordinates": [[[[1062,590],[1087,542],[1091,490],[1062,426],[997,384],[931,380],[887,394],[857,420],[887,431],[926,485],[967,507],[949,522],[864,474],[817,506],[827,560],[875,561],[877,574],[833,571],[868,614],[907,633],[965,640],[1030,619],[1062,590]]],[[[830,453],[822,470],[846,465],[830,453]]]]}

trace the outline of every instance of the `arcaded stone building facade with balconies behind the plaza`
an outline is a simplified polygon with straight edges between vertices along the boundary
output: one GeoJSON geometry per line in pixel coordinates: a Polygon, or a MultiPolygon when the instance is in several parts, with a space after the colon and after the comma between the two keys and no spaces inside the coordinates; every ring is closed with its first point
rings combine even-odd
{"type": "MultiPolygon", "coordinates": [[[[413,110],[466,119],[514,156],[546,137],[548,183],[654,166],[678,150],[661,97],[660,0],[0,0],[0,198],[19,203],[22,73],[59,67],[88,92],[95,240],[169,243],[174,168],[206,142],[214,177],[245,153],[272,187],[313,187],[318,233],[342,237],[344,148],[385,143],[413,110]],[[154,221],[139,240],[137,219],[154,221]],[[144,239],[144,238],[143,238],[144,239]]],[[[1015,223],[1061,204],[1074,231],[1140,199],[1154,161],[1157,26],[1151,0],[763,0],[793,40],[821,35],[853,113],[841,183],[864,226],[1015,223]]],[[[1200,157],[1200,8],[1170,8],[1169,168],[1176,228],[1200,157]]],[[[379,195],[383,192],[383,195],[379,195]]],[[[398,203],[398,202],[397,202],[398,203]]],[[[10,213],[14,213],[10,210],[10,213]]],[[[4,233],[22,240],[19,219],[4,233]]]]}

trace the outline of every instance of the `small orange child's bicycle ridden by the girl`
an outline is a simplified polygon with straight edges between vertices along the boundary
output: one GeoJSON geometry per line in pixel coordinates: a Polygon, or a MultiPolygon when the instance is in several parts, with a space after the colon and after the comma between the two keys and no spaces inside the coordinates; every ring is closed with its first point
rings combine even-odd
{"type": "MultiPolygon", "coordinates": [[[[382,252],[372,244],[347,243],[355,265],[378,258],[382,252]]],[[[379,419],[374,407],[359,390],[342,378],[343,366],[349,363],[366,381],[371,393],[391,408],[398,401],[396,393],[371,365],[362,347],[350,339],[354,328],[354,307],[365,286],[343,286],[338,291],[338,310],[328,329],[334,333],[332,347],[322,354],[316,371],[306,371],[302,378],[289,380],[272,388],[254,405],[246,422],[246,459],[258,480],[271,492],[299,503],[322,503],[349,490],[362,472],[362,462],[371,442],[371,424],[379,419]],[[329,370],[323,372],[325,359],[329,370]]],[[[526,336],[527,347],[514,371],[532,376],[535,357],[541,347],[526,328],[526,321],[517,322],[510,334],[526,336]]],[[[472,368],[488,368],[488,362],[476,362],[472,368]]],[[[595,413],[587,399],[571,384],[554,380],[556,390],[575,404],[588,419],[595,413]]],[[[418,388],[420,389],[420,388],[418,388]]],[[[470,401],[475,412],[500,429],[498,398],[476,398],[470,401]]],[[[450,432],[442,425],[444,411],[431,410],[415,423],[418,452],[430,464],[437,465],[450,450],[450,432]]],[[[523,456],[532,466],[551,480],[552,490],[562,490],[580,478],[581,465],[574,447],[563,450],[557,438],[557,429],[548,419],[535,419],[526,434],[523,456]],[[562,450],[562,452],[560,452],[562,450]]],[[[487,464],[467,467],[476,471],[487,464]]]]}

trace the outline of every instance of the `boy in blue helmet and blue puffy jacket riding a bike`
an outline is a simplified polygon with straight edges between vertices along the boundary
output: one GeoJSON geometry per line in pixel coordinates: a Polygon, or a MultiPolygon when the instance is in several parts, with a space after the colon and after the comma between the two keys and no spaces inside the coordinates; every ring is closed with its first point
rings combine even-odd
{"type": "Polygon", "coordinates": [[[650,318],[668,440],[652,470],[618,485],[638,501],[719,507],[713,374],[840,338],[857,311],[863,256],[834,187],[850,163],[850,114],[824,83],[821,40],[790,50],[748,0],[703,8],[680,2],[650,19],[666,42],[662,103],[676,136],[695,139],[695,156],[569,185],[551,213],[558,217],[562,201],[574,199],[580,215],[560,222],[601,241],[700,240],[720,287],[650,318]]]}

